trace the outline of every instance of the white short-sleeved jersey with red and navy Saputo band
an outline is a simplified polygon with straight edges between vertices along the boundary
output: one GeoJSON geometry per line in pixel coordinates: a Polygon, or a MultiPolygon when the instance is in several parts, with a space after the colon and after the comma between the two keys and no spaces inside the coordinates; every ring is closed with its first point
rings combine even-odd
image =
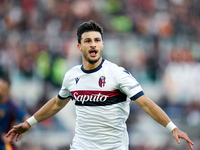
{"type": "Polygon", "coordinates": [[[71,150],[128,150],[129,102],[144,94],[135,78],[103,59],[93,70],[81,65],[70,69],[58,97],[66,98],[68,90],[77,115],[71,150]]]}

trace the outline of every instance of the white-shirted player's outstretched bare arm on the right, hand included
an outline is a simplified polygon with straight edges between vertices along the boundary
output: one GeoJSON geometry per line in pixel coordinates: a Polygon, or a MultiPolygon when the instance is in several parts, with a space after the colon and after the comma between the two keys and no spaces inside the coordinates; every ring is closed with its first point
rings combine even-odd
{"type": "Polygon", "coordinates": [[[183,131],[179,130],[167,116],[167,114],[152,100],[148,99],[145,95],[139,97],[135,102],[155,121],[167,127],[173,133],[173,137],[176,139],[177,143],[180,143],[180,138],[185,139],[188,143],[190,149],[194,143],[188,138],[188,135],[183,131]]]}

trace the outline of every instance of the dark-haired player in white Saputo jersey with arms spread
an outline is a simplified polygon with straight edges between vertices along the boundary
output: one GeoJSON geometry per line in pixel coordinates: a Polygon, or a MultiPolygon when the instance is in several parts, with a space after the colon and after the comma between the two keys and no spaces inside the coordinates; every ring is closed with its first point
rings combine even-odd
{"type": "Polygon", "coordinates": [[[75,136],[71,150],[128,150],[126,120],[129,102],[135,101],[154,120],[168,128],[178,143],[185,139],[194,144],[152,100],[124,68],[102,58],[103,30],[93,21],[84,22],[77,30],[77,47],[82,65],[70,69],[56,97],[48,101],[25,122],[14,126],[7,138],[17,141],[31,126],[52,117],[72,98],[76,105],[75,136]]]}

